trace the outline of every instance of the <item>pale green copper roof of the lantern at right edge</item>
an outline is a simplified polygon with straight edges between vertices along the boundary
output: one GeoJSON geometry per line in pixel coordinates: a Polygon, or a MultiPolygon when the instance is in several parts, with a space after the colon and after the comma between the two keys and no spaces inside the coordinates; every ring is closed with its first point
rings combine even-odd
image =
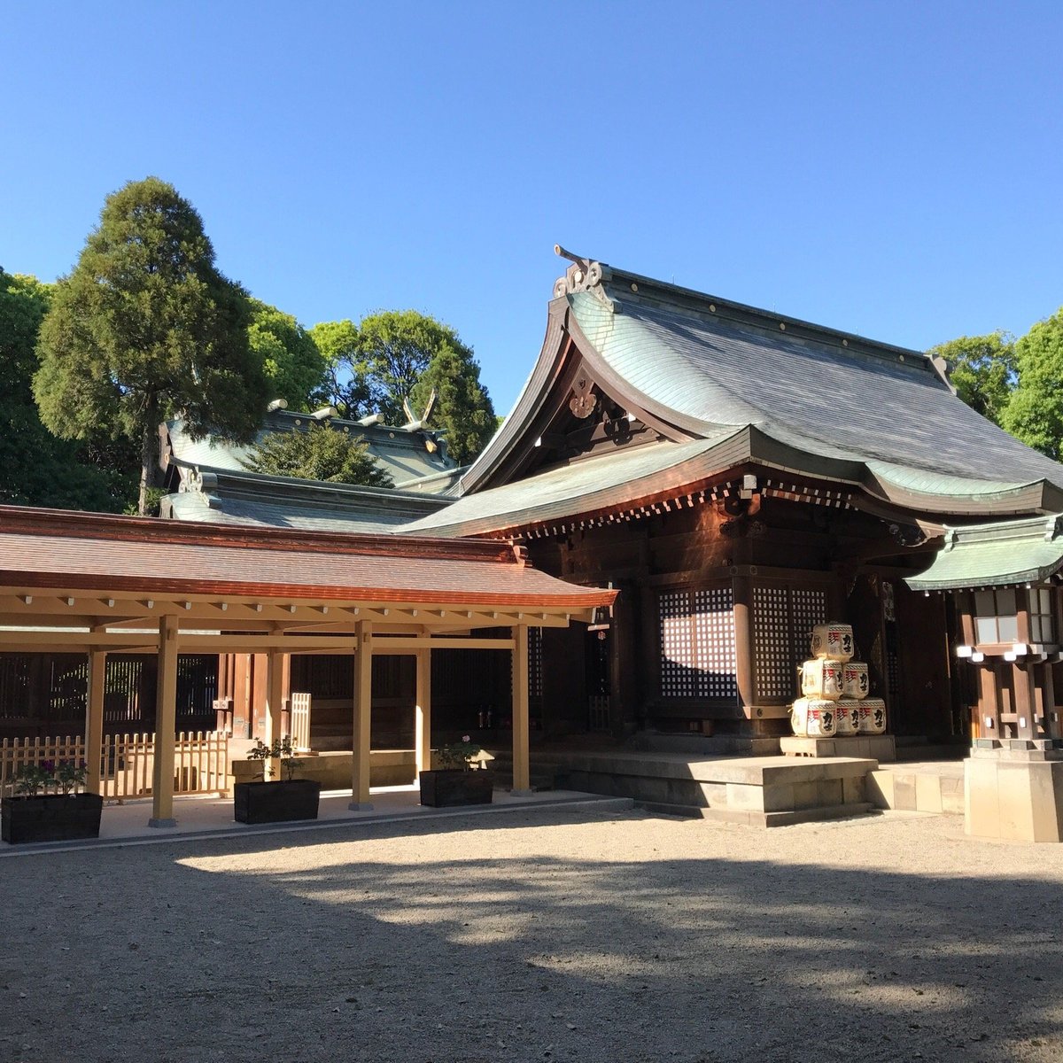
{"type": "Polygon", "coordinates": [[[915,591],[1043,583],[1063,568],[1061,530],[1060,516],[947,528],[930,568],[905,583],[915,591]]]}

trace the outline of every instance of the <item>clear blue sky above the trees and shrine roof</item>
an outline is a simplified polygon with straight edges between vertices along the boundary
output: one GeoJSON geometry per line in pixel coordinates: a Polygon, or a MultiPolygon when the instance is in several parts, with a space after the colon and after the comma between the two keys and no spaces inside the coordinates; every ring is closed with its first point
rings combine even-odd
{"type": "Polygon", "coordinates": [[[304,324],[417,309],[500,412],[560,242],[926,348],[1063,304],[1063,4],[16,3],[0,266],[156,174],[304,324]]]}

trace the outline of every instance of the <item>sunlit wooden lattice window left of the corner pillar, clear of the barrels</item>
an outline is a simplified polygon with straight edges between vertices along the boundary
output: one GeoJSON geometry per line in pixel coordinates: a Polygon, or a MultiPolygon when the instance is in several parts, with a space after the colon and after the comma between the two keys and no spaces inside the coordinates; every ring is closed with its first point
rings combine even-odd
{"type": "Polygon", "coordinates": [[[662,696],[737,697],[731,588],[664,591],[659,603],[662,696]]]}

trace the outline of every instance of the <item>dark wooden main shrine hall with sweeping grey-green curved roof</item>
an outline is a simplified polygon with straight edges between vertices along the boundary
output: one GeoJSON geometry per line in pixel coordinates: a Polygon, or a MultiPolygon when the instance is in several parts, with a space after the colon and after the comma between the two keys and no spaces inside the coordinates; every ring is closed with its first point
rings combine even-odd
{"type": "Polygon", "coordinates": [[[906,579],[946,525],[1063,511],[1063,467],[924,353],[556,250],[570,265],[512,412],[457,501],[402,529],[509,537],[620,591],[607,629],[544,632],[544,729],[766,749],[812,626],[839,621],[891,732],[977,737],[956,603],[906,579]]]}

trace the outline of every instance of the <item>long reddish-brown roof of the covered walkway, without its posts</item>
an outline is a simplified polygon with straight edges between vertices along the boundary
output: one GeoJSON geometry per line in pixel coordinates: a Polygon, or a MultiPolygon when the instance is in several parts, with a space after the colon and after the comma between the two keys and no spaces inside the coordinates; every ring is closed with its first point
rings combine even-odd
{"type": "Polygon", "coordinates": [[[356,621],[420,637],[561,626],[614,594],[555,579],[500,541],[0,507],[5,649],[154,649],[159,619],[172,614],[189,653],[233,651],[234,639],[252,651],[339,652],[356,621]]]}

